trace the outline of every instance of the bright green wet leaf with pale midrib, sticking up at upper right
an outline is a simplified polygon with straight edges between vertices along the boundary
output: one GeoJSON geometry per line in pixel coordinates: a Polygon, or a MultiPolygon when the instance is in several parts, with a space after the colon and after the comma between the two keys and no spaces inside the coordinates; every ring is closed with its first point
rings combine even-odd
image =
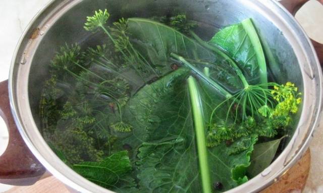
{"type": "Polygon", "coordinates": [[[222,29],[212,37],[209,44],[227,51],[238,62],[249,83],[267,83],[266,62],[251,19],[222,29]]]}

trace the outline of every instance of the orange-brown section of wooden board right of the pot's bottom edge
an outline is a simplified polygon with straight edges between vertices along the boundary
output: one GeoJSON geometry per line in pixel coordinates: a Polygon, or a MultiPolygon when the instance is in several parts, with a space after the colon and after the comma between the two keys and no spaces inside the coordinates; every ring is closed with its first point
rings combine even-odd
{"type": "Polygon", "coordinates": [[[303,157],[272,186],[261,193],[289,193],[301,192],[306,184],[310,169],[311,156],[309,150],[303,157]]]}

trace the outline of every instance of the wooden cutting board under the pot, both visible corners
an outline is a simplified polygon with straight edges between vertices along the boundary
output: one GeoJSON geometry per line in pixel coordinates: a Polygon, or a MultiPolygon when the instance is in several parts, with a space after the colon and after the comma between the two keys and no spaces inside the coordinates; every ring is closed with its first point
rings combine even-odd
{"type": "MultiPolygon", "coordinates": [[[[310,152],[304,156],[272,186],[267,187],[261,193],[291,193],[301,192],[306,184],[310,168],[310,152]]],[[[6,193],[70,193],[65,185],[53,176],[36,182],[32,186],[16,186],[6,193]]]]}

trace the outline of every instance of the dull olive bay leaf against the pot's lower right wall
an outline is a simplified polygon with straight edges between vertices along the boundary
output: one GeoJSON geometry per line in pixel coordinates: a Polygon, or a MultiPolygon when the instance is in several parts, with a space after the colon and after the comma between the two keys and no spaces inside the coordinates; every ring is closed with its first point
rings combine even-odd
{"type": "Polygon", "coordinates": [[[282,139],[255,144],[251,154],[251,165],[247,171],[249,177],[258,175],[272,163],[282,139]]]}

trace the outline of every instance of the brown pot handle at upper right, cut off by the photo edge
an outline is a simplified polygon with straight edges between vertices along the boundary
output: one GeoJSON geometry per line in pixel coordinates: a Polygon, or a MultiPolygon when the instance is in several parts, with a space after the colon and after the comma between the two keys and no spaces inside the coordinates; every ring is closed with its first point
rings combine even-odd
{"type": "MultiPolygon", "coordinates": [[[[281,3],[293,16],[295,16],[296,12],[309,0],[282,0],[281,3]]],[[[317,0],[319,3],[323,5],[323,0],[317,0]]],[[[323,67],[323,44],[312,40],[314,49],[316,51],[318,60],[323,67]]]]}

